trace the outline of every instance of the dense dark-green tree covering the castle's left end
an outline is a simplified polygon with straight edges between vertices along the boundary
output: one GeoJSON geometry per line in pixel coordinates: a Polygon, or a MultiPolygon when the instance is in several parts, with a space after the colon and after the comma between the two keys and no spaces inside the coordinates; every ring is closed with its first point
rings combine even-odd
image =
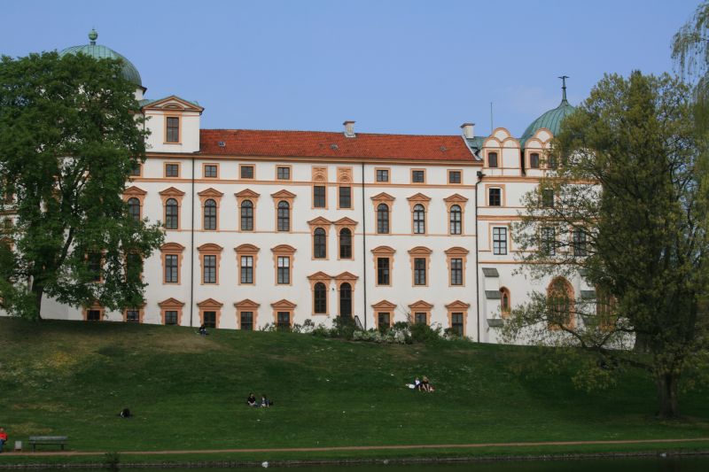
{"type": "Polygon", "coordinates": [[[135,90],[117,60],[50,52],[0,61],[0,297],[9,313],[40,317],[44,295],[73,306],[142,303],[141,261],[163,236],[122,199],[145,152],[135,90]]]}

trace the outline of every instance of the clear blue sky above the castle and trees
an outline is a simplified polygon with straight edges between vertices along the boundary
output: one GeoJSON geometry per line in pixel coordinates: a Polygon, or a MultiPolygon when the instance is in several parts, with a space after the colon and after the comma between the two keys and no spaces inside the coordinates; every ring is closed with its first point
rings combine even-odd
{"type": "Polygon", "coordinates": [[[0,54],[97,43],[133,62],[147,97],[205,107],[203,128],[521,135],[604,73],[673,70],[697,1],[37,1],[3,3],[0,54]]]}

